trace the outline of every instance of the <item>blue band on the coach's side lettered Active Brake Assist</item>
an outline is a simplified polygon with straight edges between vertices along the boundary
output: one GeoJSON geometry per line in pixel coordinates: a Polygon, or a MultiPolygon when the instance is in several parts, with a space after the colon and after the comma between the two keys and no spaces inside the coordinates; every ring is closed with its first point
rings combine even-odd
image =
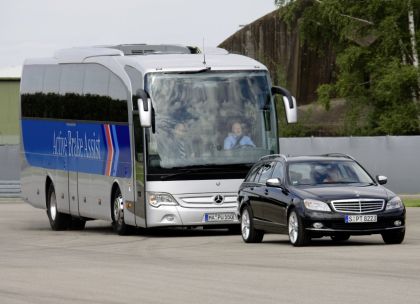
{"type": "MultiPolygon", "coordinates": [[[[110,125],[110,129],[111,176],[131,177],[129,128],[110,125]]],[[[22,119],[22,144],[31,166],[105,174],[109,147],[103,124],[22,119]]]]}

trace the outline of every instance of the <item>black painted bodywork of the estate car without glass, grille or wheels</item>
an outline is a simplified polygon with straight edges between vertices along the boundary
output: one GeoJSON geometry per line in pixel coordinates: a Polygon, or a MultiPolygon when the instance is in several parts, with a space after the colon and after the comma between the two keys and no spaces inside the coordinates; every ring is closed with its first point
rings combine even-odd
{"type": "MultiPolygon", "coordinates": [[[[286,171],[287,166],[284,167],[286,171]]],[[[371,175],[369,174],[369,176],[371,175]]],[[[373,178],[372,180],[375,181],[373,178]]],[[[310,185],[295,187],[285,179],[282,181],[280,187],[273,187],[266,184],[247,183],[245,181],[238,192],[238,216],[240,216],[245,205],[249,204],[254,213],[254,225],[256,229],[265,232],[287,234],[288,215],[291,210],[295,210],[302,218],[305,230],[310,233],[311,237],[337,234],[369,235],[388,230],[405,229],[405,208],[386,210],[387,202],[395,196],[393,192],[378,182],[372,184],[355,184],[352,186],[331,184],[321,187],[310,185]],[[303,200],[308,198],[326,202],[332,211],[322,212],[305,208],[303,200]],[[343,198],[383,199],[385,205],[380,212],[363,213],[364,215],[376,214],[378,217],[376,224],[344,224],[344,216],[346,214],[334,211],[330,203],[332,200],[343,198]],[[393,225],[395,220],[401,220],[402,225],[395,227],[393,225]],[[312,224],[315,222],[322,222],[325,227],[315,229],[312,227],[312,224]]]]}

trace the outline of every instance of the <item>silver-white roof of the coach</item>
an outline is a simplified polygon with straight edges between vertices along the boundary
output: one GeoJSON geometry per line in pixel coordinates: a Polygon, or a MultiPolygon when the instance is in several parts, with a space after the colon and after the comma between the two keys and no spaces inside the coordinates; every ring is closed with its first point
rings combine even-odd
{"type": "Polygon", "coordinates": [[[52,58],[27,59],[27,64],[103,63],[112,58],[119,65],[130,65],[143,74],[149,72],[201,71],[201,70],[267,70],[260,62],[242,55],[230,54],[224,49],[198,48],[178,45],[116,45],[80,47],[59,50],[52,58]],[[146,52],[135,52],[140,46],[146,52]],[[152,51],[150,51],[152,49],[152,51]],[[157,50],[157,51],[153,51],[157,50]],[[139,54],[139,55],[137,55],[139,54]]]}

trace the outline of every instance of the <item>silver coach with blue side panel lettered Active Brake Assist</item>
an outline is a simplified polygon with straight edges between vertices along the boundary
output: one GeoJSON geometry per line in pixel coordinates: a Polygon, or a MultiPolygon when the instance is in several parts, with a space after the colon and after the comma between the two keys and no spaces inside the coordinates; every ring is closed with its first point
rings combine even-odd
{"type": "MultiPolygon", "coordinates": [[[[71,48],[28,59],[21,80],[22,197],[53,230],[238,224],[237,189],[278,153],[267,68],[215,48],[71,48]]],[[[213,226],[214,227],[214,226],[213,226]]]]}

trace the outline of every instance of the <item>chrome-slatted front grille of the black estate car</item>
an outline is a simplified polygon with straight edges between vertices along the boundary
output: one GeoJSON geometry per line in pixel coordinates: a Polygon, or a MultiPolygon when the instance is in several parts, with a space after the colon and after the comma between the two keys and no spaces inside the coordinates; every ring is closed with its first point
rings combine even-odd
{"type": "Polygon", "coordinates": [[[331,201],[331,205],[339,213],[369,213],[382,211],[385,201],[382,199],[349,199],[331,201]]]}

